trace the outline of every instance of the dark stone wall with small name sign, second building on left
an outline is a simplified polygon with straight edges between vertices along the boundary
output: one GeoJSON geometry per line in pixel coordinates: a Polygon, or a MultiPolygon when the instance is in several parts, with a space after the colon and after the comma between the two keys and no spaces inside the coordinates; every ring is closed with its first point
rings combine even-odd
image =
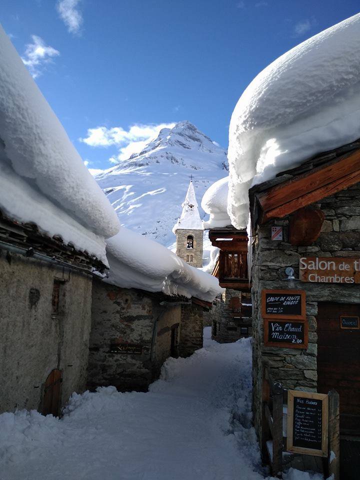
{"type": "Polygon", "coordinates": [[[94,280],[88,387],[147,390],[170,356],[173,328],[178,343],[180,314],[180,305],[161,306],[145,292],[94,280]],[[141,345],[141,353],[111,352],[116,343],[141,345]]]}

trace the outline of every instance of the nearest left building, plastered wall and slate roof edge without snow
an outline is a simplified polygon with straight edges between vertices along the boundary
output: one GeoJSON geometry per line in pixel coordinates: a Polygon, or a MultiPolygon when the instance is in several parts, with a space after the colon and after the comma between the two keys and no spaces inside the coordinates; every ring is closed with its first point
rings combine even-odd
{"type": "Polygon", "coordinates": [[[0,411],[55,416],[86,385],[92,268],[33,225],[0,220],[0,411]]]}

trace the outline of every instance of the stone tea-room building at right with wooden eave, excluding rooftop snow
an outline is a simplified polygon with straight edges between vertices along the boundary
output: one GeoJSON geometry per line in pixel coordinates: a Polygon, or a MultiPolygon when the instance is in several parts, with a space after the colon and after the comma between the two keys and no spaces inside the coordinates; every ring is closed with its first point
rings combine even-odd
{"type": "Polygon", "coordinates": [[[360,431],[359,159],[357,141],[249,190],[253,419],[260,439],[265,368],[286,389],[337,390],[340,433],[360,431]],[[266,290],[305,296],[300,348],[268,341],[266,290]]]}

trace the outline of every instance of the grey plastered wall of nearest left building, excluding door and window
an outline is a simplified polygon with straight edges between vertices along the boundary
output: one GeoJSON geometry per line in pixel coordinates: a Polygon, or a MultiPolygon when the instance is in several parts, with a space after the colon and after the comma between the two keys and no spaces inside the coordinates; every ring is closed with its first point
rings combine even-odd
{"type": "Polygon", "coordinates": [[[0,411],[40,409],[52,369],[62,372],[61,405],[86,383],[91,276],[0,250],[0,411]],[[60,282],[54,313],[54,280],[60,282]]]}

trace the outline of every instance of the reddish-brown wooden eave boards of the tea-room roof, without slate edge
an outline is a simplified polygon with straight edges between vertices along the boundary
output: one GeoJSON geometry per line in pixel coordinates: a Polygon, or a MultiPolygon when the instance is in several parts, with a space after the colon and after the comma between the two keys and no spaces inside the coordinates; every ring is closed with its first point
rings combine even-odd
{"type": "Polygon", "coordinates": [[[344,190],[360,181],[360,149],[342,155],[330,164],[255,192],[251,214],[258,224],[271,218],[283,218],[301,207],[344,190]]]}

